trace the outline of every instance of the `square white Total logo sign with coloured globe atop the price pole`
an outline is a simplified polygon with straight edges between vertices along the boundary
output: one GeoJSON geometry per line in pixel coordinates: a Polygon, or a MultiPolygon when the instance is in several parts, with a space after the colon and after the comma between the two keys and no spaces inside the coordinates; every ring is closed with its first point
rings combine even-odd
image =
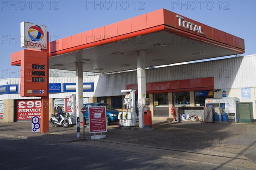
{"type": "Polygon", "coordinates": [[[47,27],[38,24],[20,23],[21,47],[25,48],[47,48],[47,27]]]}

